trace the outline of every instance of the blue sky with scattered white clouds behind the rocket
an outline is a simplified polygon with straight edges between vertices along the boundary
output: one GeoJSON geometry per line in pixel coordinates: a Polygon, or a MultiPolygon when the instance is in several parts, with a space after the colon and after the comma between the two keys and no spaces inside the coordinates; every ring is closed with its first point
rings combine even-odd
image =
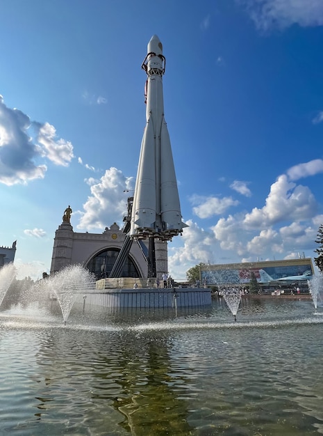
{"type": "Polygon", "coordinates": [[[163,42],[183,236],[169,272],[313,257],[323,223],[322,0],[2,0],[0,244],[49,272],[74,231],[122,226],[145,125],[141,64],[163,42]]]}

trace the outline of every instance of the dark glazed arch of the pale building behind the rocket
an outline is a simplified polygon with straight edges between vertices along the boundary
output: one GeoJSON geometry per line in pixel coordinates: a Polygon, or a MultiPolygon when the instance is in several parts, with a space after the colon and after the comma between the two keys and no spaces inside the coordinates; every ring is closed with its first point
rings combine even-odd
{"type": "MultiPolygon", "coordinates": [[[[100,251],[89,260],[86,267],[95,275],[95,277],[97,277],[97,279],[109,277],[113,265],[115,265],[115,260],[117,259],[118,254],[119,249],[116,248],[100,251]]],[[[141,277],[138,267],[136,267],[130,256],[128,256],[126,262],[124,263],[121,277],[141,277]]]]}

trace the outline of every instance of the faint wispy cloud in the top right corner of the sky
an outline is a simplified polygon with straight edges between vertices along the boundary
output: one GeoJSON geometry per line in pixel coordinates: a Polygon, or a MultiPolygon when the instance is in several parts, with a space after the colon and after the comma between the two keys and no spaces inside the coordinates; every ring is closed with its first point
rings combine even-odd
{"type": "Polygon", "coordinates": [[[238,0],[246,6],[257,29],[266,31],[274,26],[281,29],[292,24],[322,26],[322,0],[238,0]]]}

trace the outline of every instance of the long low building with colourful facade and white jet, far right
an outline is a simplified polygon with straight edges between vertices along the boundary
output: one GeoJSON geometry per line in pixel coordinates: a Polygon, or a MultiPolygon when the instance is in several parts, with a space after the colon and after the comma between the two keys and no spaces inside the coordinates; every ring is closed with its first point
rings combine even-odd
{"type": "Polygon", "coordinates": [[[203,265],[200,268],[201,283],[215,286],[247,286],[251,273],[262,288],[270,288],[307,283],[314,270],[311,258],[203,265]]]}

